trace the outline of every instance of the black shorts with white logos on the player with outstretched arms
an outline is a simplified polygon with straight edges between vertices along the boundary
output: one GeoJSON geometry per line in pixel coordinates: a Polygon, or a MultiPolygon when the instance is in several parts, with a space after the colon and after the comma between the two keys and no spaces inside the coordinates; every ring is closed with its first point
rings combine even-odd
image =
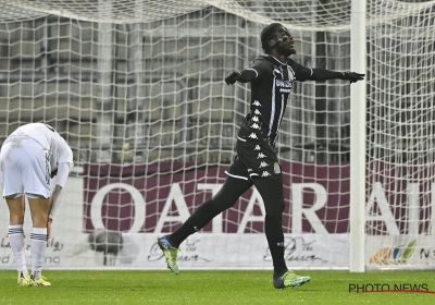
{"type": "Polygon", "coordinates": [[[236,147],[237,155],[233,164],[225,171],[227,175],[244,180],[282,178],[276,152],[261,131],[243,125],[237,136],[236,147]]]}

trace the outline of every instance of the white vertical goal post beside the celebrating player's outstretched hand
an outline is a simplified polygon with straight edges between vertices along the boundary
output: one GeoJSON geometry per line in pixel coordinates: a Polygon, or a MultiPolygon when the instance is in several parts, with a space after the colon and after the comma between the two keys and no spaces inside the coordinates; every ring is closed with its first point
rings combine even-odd
{"type": "MultiPolygon", "coordinates": [[[[366,0],[352,0],[350,69],[366,71],[366,0]]],[[[365,270],[365,112],[366,81],[350,88],[350,271],[365,270]]]]}

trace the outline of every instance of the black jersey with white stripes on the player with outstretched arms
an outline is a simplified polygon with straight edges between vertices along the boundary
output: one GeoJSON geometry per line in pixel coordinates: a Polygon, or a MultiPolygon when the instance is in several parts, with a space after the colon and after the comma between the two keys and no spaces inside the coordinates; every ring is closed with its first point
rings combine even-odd
{"type": "Polygon", "coordinates": [[[274,145],[293,84],[295,81],[308,80],[312,69],[291,59],[282,63],[273,56],[260,56],[251,70],[257,72],[257,77],[251,81],[249,125],[266,133],[270,143],[274,145]]]}

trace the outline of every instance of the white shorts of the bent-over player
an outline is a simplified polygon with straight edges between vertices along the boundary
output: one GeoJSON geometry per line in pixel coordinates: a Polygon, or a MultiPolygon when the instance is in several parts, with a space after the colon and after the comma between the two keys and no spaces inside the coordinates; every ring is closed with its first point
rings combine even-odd
{"type": "Polygon", "coordinates": [[[3,197],[14,194],[51,196],[49,151],[30,137],[12,139],[1,147],[3,197]]]}

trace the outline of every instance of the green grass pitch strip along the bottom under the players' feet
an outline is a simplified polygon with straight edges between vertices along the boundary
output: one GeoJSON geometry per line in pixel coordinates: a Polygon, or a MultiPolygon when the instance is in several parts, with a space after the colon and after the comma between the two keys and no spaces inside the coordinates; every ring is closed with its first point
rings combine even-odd
{"type": "Polygon", "coordinates": [[[285,290],[273,288],[271,271],[47,270],[51,288],[21,288],[15,271],[0,272],[0,304],[435,304],[431,293],[349,293],[349,284],[376,283],[435,291],[435,271],[298,271],[312,281],[285,290]]]}

